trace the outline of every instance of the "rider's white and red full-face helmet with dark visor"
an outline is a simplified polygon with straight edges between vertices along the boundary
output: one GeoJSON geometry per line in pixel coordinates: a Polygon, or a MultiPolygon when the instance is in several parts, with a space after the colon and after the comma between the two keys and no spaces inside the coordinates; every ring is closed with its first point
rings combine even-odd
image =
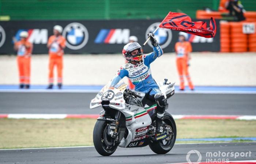
{"type": "Polygon", "coordinates": [[[128,43],[124,46],[123,55],[124,58],[130,62],[139,62],[142,59],[142,47],[137,42],[128,43]],[[131,54],[134,50],[138,50],[136,55],[131,54]]]}

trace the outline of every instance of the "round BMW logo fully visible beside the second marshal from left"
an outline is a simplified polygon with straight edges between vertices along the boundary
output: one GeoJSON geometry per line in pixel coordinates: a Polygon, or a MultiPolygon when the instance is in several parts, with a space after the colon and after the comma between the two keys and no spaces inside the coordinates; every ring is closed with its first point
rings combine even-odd
{"type": "Polygon", "coordinates": [[[67,40],[67,47],[72,50],[83,48],[89,39],[86,27],[81,23],[70,23],[63,30],[63,36],[67,40]]]}

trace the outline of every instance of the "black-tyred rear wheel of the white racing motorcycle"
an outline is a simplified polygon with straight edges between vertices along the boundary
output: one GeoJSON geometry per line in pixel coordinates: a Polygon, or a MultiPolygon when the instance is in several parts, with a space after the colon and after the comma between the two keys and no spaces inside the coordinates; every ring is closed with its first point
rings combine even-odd
{"type": "Polygon", "coordinates": [[[165,115],[163,116],[163,122],[165,122],[165,128],[172,130],[173,134],[172,136],[167,137],[162,141],[149,143],[150,149],[157,154],[168,153],[173,148],[173,145],[176,141],[176,124],[170,113],[165,112],[165,115]]]}

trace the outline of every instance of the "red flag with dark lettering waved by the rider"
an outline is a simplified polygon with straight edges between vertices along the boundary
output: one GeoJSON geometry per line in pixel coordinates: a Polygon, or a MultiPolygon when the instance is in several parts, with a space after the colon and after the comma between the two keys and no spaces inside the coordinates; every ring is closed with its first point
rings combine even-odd
{"type": "Polygon", "coordinates": [[[159,27],[170,28],[205,38],[213,38],[216,34],[216,23],[213,17],[210,20],[210,27],[207,28],[206,22],[192,22],[188,15],[178,12],[169,12],[159,27]]]}

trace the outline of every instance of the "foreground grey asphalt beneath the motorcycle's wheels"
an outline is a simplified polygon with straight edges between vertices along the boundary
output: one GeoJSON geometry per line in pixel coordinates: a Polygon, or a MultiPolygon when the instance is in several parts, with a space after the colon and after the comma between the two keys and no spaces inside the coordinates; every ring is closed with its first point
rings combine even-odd
{"type": "MultiPolygon", "coordinates": [[[[175,144],[172,150],[165,155],[157,155],[147,147],[143,148],[117,148],[113,155],[108,157],[100,156],[94,147],[77,148],[41,148],[41,149],[15,149],[0,150],[1,164],[166,164],[187,162],[187,153],[197,150],[202,155],[202,161],[209,159],[234,160],[255,160],[256,142],[238,143],[207,143],[207,144],[175,144]],[[207,152],[238,152],[239,156],[227,157],[206,157],[207,152]],[[249,151],[251,155],[249,156],[249,151]],[[247,157],[242,157],[241,152],[248,152],[247,157]],[[241,155],[241,156],[240,156],[241,155]]],[[[223,154],[224,155],[224,154],[223,154]]],[[[192,162],[198,160],[197,154],[191,154],[189,159],[192,162]]]]}

